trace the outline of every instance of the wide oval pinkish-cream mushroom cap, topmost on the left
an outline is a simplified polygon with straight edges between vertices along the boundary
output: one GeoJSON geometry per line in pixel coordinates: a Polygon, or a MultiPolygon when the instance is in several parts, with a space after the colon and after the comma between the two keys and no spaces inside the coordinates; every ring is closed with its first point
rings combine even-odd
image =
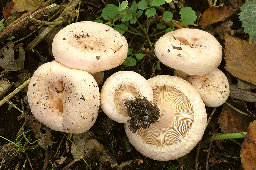
{"type": "Polygon", "coordinates": [[[67,25],[53,38],[53,56],[66,67],[89,73],[121,65],[128,53],[125,37],[108,25],[82,21],[67,25]]]}

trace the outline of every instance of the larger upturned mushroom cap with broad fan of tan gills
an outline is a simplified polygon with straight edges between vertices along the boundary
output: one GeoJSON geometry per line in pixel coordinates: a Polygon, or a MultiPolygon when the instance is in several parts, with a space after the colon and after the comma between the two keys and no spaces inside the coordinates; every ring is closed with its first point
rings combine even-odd
{"type": "Polygon", "coordinates": [[[182,157],[203,136],[207,121],[205,105],[195,88],[179,77],[161,75],[152,77],[148,83],[153,88],[153,103],[161,110],[165,108],[172,118],[165,125],[151,124],[136,133],[125,123],[128,139],[135,149],[151,159],[169,161],[182,157]]]}

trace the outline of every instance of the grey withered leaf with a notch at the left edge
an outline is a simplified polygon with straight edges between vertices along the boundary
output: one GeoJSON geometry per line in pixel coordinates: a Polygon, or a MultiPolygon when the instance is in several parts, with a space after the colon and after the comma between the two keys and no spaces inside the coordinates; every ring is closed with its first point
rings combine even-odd
{"type": "Polygon", "coordinates": [[[25,51],[19,47],[19,58],[14,59],[13,43],[9,41],[0,50],[0,66],[7,71],[17,71],[24,68],[25,51]]]}

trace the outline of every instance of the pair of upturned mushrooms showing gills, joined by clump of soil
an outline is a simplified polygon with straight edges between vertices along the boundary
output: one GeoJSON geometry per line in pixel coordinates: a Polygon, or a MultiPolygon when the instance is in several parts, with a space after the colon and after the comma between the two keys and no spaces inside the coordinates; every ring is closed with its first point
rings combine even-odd
{"type": "Polygon", "coordinates": [[[202,138],[207,118],[200,94],[186,80],[161,75],[147,81],[131,71],[114,73],[105,81],[101,108],[111,119],[125,123],[128,139],[139,152],[161,161],[190,152],[202,138]],[[148,102],[144,102],[145,98],[148,102]],[[140,103],[127,104],[131,100],[140,103]],[[157,109],[147,109],[155,106],[157,109]],[[149,122],[158,110],[159,117],[149,122]],[[135,117],[144,116],[143,123],[148,127],[135,131],[129,121],[134,119],[131,113],[135,117]]]}

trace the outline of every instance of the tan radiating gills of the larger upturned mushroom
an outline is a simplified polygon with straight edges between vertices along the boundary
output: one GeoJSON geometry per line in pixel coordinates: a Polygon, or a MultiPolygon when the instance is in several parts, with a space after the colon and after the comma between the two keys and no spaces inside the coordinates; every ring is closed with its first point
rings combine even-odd
{"type": "MultiPolygon", "coordinates": [[[[141,129],[137,134],[150,145],[165,147],[175,145],[186,136],[193,124],[194,113],[190,101],[180,90],[172,86],[155,86],[154,100],[158,106],[168,108],[171,121],[159,126],[159,123],[150,125],[148,129],[141,129]]],[[[160,120],[160,119],[159,119],[160,120]]]]}

